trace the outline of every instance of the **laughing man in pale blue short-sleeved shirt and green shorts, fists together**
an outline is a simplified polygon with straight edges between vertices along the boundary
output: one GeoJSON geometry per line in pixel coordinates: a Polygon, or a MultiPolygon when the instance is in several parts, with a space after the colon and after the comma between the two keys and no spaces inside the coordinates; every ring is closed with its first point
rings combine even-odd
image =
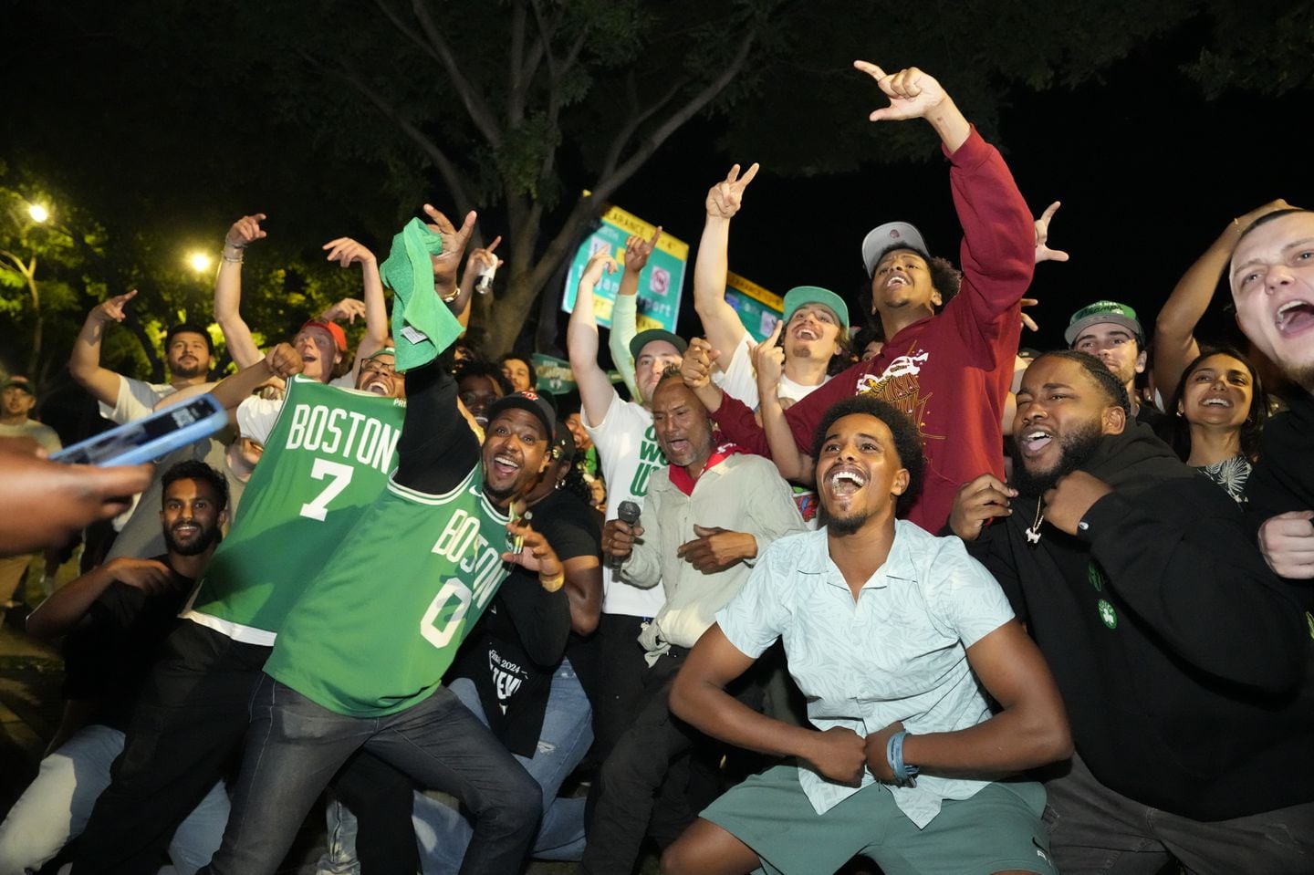
{"type": "Polygon", "coordinates": [[[895,519],[921,481],[916,427],[876,398],[841,401],[813,460],[824,526],[766,549],[670,694],[703,732],[799,762],[717,799],[662,871],[811,875],[865,854],[886,872],[1054,872],[1045,792],[1000,779],[1071,752],[1063,706],[986,569],[895,519]],[[777,640],[812,727],[725,691],[777,640]]]}

